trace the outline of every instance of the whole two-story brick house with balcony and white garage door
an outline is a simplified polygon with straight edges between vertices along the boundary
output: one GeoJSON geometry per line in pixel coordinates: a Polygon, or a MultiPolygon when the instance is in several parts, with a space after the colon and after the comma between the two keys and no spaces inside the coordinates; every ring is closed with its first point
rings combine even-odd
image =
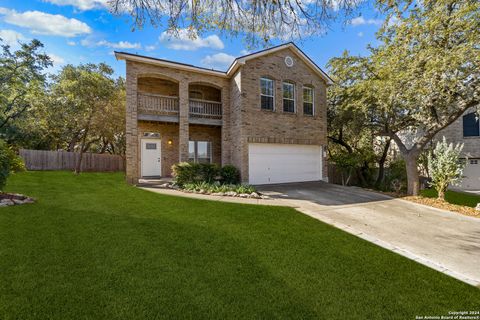
{"type": "Polygon", "coordinates": [[[217,71],[116,52],[126,61],[126,175],[171,176],[181,161],[233,164],[242,182],[327,180],[331,79],[295,44],[217,71]]]}

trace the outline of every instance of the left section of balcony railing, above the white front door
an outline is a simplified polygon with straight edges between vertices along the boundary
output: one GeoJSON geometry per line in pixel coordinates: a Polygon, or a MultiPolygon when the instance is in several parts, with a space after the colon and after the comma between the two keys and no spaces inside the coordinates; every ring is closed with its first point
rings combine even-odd
{"type": "Polygon", "coordinates": [[[138,111],[155,115],[178,115],[178,97],[138,93],[138,111]]]}

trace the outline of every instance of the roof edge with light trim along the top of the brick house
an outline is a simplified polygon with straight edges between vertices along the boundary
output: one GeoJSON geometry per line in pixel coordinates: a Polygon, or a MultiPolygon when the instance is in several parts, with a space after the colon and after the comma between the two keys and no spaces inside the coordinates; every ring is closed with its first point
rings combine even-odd
{"type": "Polygon", "coordinates": [[[173,67],[181,70],[187,70],[187,71],[196,71],[200,73],[205,73],[205,74],[210,74],[210,75],[215,75],[215,76],[220,76],[220,77],[230,77],[233,75],[240,66],[245,64],[248,60],[256,59],[261,56],[271,54],[286,48],[292,49],[298,57],[306,64],[308,65],[315,73],[317,73],[322,79],[325,80],[325,82],[328,85],[333,84],[333,80],[326,74],[315,62],[312,61],[302,50],[300,50],[299,47],[297,47],[293,42],[288,42],[281,44],[276,47],[268,48],[265,50],[257,51],[254,53],[250,53],[241,57],[236,58],[233,63],[230,65],[228,70],[226,72],[224,71],[219,71],[219,70],[214,70],[214,69],[208,69],[208,68],[203,68],[203,67],[197,67],[191,64],[185,64],[185,63],[180,63],[180,62],[175,62],[175,61],[169,61],[169,60],[164,60],[164,59],[158,59],[158,58],[152,58],[152,57],[147,57],[147,56],[142,56],[138,54],[132,54],[128,52],[118,52],[115,51],[115,57],[117,60],[131,60],[131,61],[137,61],[137,62],[144,62],[144,63],[150,63],[154,65],[159,65],[159,66],[164,66],[164,67],[173,67]]]}

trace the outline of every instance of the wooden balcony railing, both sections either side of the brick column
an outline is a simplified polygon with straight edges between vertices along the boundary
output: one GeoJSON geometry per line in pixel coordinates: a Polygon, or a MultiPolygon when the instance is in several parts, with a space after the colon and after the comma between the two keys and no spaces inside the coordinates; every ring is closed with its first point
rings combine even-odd
{"type": "MultiPolygon", "coordinates": [[[[139,92],[137,94],[137,106],[139,120],[178,123],[178,97],[139,92]]],[[[221,125],[222,103],[202,99],[189,99],[189,122],[221,125]]]]}

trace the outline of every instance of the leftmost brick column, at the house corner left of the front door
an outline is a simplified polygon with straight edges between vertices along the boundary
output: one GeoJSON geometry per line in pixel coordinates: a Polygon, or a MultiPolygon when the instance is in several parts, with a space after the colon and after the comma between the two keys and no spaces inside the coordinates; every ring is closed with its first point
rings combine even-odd
{"type": "Polygon", "coordinates": [[[137,75],[132,70],[132,66],[127,62],[127,105],[125,119],[126,135],[126,179],[127,183],[137,184],[139,179],[138,156],[138,122],[137,122],[137,75]]]}

